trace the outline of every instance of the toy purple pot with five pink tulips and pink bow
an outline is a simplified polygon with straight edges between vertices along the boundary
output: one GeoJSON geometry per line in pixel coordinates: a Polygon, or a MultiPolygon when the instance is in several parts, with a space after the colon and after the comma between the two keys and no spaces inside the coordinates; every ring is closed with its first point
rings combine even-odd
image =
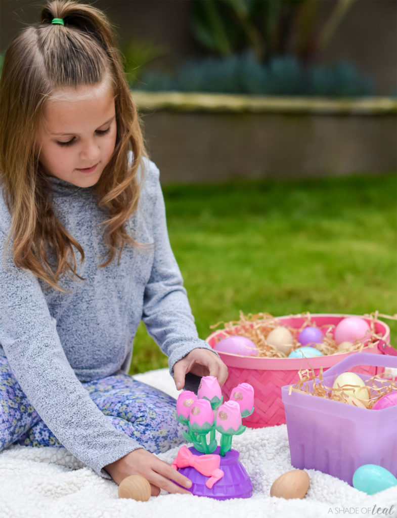
{"type": "Polygon", "coordinates": [[[182,434],[187,441],[193,442],[193,447],[182,446],[172,467],[192,481],[190,492],[194,495],[217,500],[249,498],[252,483],[239,461],[239,452],[231,449],[231,441],[233,435],[240,435],[245,430],[242,416],[246,417],[254,410],[253,387],[240,383],[232,390],[231,399],[222,404],[217,379],[204,376],[197,396],[184,391],[178,397],[177,419],[188,426],[188,432],[182,434]],[[215,427],[221,434],[219,446],[215,427]],[[205,438],[207,434],[210,434],[209,444],[205,438]]]}

